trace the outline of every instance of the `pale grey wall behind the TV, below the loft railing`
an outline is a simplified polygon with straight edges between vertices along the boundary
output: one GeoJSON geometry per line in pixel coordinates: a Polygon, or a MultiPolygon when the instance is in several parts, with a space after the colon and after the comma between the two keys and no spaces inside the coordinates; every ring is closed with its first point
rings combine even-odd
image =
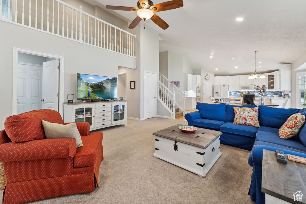
{"type": "MultiPolygon", "coordinates": [[[[65,58],[64,63],[64,95],[76,95],[76,74],[118,76],[118,66],[134,68],[135,59],[118,53],[110,52],[80,42],[49,35],[29,28],[0,21],[1,54],[0,81],[6,87],[6,100],[0,102],[0,129],[4,127],[6,117],[12,115],[13,92],[13,47],[47,53],[65,58]],[[22,34],[22,35],[21,35],[22,34]]],[[[147,29],[146,29],[147,30],[147,29]]],[[[148,40],[148,39],[147,39],[148,40]]],[[[156,52],[158,56],[158,51],[156,52]]],[[[158,61],[157,61],[158,62],[158,61]]],[[[4,94],[4,90],[2,90],[4,94]]],[[[65,101],[65,99],[64,99],[65,101]]],[[[138,110],[135,110],[139,112],[138,110]]]]}

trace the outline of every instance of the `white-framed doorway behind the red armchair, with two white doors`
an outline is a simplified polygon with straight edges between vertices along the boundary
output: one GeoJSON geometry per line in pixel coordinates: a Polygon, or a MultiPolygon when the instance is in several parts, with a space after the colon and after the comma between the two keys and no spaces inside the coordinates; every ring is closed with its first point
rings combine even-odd
{"type": "Polygon", "coordinates": [[[14,48],[13,59],[13,115],[40,109],[62,113],[63,57],[14,48]]]}

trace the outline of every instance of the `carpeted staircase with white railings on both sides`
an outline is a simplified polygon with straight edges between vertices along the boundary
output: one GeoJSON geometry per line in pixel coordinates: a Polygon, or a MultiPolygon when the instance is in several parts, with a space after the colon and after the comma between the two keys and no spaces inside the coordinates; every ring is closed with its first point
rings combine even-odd
{"type": "Polygon", "coordinates": [[[181,92],[173,83],[159,72],[158,100],[169,111],[171,118],[175,119],[185,115],[185,93],[181,92]]]}

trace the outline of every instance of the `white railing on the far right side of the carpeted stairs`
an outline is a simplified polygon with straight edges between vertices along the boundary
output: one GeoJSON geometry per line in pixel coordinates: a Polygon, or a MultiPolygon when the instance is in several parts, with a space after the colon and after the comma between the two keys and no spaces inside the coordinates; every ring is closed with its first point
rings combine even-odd
{"type": "Polygon", "coordinates": [[[159,72],[159,81],[164,85],[167,89],[175,94],[175,105],[183,111],[183,115],[185,115],[185,99],[186,94],[183,93],[180,89],[178,89],[172,82],[170,82],[162,73],[159,72]]]}

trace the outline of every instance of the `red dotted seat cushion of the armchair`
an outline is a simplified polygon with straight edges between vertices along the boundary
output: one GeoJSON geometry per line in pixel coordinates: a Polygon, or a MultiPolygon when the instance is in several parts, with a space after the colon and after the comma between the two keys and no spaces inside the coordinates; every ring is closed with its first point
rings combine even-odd
{"type": "MultiPolygon", "coordinates": [[[[103,134],[101,132],[90,133],[81,137],[83,147],[77,148],[74,156],[74,167],[93,166],[98,158],[98,153],[102,149],[103,134]]],[[[103,150],[102,150],[103,151],[103,150]]]]}

